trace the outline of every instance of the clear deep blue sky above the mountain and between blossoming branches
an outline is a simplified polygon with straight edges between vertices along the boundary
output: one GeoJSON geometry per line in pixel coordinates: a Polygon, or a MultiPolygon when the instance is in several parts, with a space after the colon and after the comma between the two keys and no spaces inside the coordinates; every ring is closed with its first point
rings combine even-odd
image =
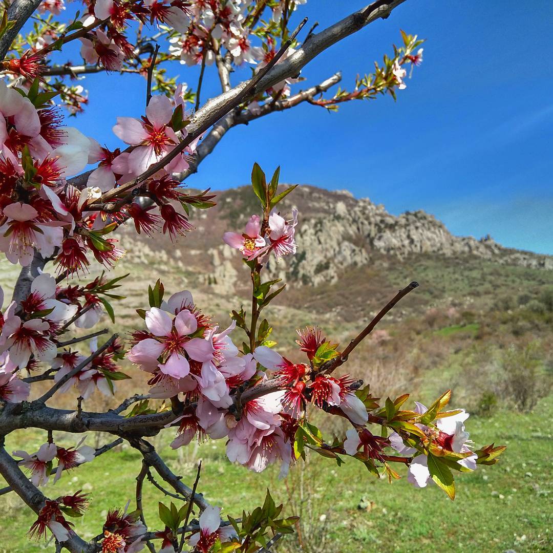
{"type": "MultiPolygon", "coordinates": [[[[324,28],[362,6],[309,0],[296,18],[324,28]]],[[[351,87],[404,29],[427,42],[397,102],[351,102],[338,113],[302,105],[233,129],[187,183],[224,189],[246,184],[254,161],[267,172],[281,165],[284,182],[348,189],[395,214],[423,209],[454,234],[489,233],[505,246],[553,254],[552,24],[546,0],[408,0],[312,61],[296,85],[342,70],[351,87]]],[[[174,66],[197,82],[196,67],[174,66]]],[[[90,105],[71,124],[119,145],[111,127],[118,115],[143,113],[144,80],[92,75],[85,86],[90,105]]],[[[202,98],[216,93],[208,79],[202,98]]]]}

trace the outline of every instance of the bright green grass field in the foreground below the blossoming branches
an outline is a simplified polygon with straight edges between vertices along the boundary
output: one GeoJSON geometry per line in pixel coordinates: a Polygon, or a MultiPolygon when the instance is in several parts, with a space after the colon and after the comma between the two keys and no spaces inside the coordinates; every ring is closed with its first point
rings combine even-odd
{"type": "MultiPolygon", "coordinates": [[[[378,481],[354,460],[339,468],[312,454],[304,468],[293,469],[287,479],[279,481],[274,468],[254,474],[231,465],[222,442],[198,448],[191,445],[180,455],[167,446],[172,432],[164,432],[155,443],[189,484],[194,479],[194,461],[202,458],[199,489],[212,504],[225,505],[225,513],[239,516],[242,509],[253,509],[262,503],[267,487],[289,513],[299,514],[301,509],[300,532],[306,551],[551,551],[552,417],[550,397],[534,413],[505,411],[490,419],[469,419],[467,427],[477,445],[495,440],[508,449],[498,465],[459,476],[454,502],[433,485],[416,490],[406,479],[392,486],[378,481]],[[363,509],[358,508],[360,503],[363,509]]],[[[55,439],[64,444],[70,436],[55,439]]],[[[27,432],[24,438],[8,436],[6,445],[8,450],[17,444],[30,451],[40,441],[27,432]]],[[[129,493],[133,493],[139,465],[137,453],[119,448],[64,474],[44,492],[51,497],[79,488],[92,493],[90,510],[76,519],[77,531],[90,539],[101,532],[108,508],[122,507],[132,499],[129,493]]],[[[160,492],[146,483],[145,516],[152,529],[159,528],[158,499],[160,492]]],[[[18,498],[6,495],[2,505],[0,552],[54,551],[53,545],[45,547],[25,538],[33,519],[18,498]]],[[[278,550],[299,551],[297,540],[290,536],[280,542],[278,550]]]]}

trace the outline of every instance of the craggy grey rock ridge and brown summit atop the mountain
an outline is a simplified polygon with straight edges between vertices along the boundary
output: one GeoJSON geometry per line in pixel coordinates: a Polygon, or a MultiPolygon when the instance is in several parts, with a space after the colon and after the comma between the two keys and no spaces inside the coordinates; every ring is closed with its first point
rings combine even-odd
{"type": "MultiPolygon", "coordinates": [[[[217,196],[216,207],[194,212],[196,228],[185,239],[171,244],[156,237],[152,244],[143,238],[140,255],[146,258],[155,253],[187,268],[199,265],[207,270],[208,281],[225,281],[230,286],[241,263],[221,237],[228,230],[241,231],[249,214],[258,211],[256,202],[249,187],[223,191],[217,196]]],[[[553,256],[504,248],[489,236],[453,236],[444,223],[425,211],[390,215],[383,205],[367,198],[357,200],[346,190],[298,186],[280,206],[283,214],[292,207],[300,212],[298,254],[279,264],[271,263],[269,271],[299,286],[335,282],[348,268],[371,265],[378,254],[399,259],[417,254],[468,255],[499,264],[553,269],[553,256]]],[[[135,239],[134,232],[126,234],[135,239]]]]}

